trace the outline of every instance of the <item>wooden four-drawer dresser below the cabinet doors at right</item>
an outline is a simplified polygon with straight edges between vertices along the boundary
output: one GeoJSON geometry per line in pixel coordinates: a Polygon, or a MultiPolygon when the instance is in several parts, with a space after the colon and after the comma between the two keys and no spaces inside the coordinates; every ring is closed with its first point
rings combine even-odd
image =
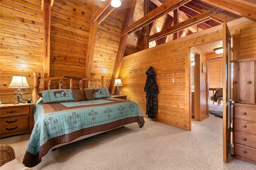
{"type": "Polygon", "coordinates": [[[232,104],[234,113],[234,156],[256,163],[256,105],[232,104]]]}

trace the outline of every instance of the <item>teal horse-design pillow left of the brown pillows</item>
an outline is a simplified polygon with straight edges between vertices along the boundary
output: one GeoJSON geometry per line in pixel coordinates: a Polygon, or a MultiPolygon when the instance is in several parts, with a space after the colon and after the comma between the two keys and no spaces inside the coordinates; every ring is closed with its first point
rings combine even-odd
{"type": "Polygon", "coordinates": [[[71,89],[52,89],[41,92],[42,102],[68,102],[74,101],[73,92],[71,89]]]}

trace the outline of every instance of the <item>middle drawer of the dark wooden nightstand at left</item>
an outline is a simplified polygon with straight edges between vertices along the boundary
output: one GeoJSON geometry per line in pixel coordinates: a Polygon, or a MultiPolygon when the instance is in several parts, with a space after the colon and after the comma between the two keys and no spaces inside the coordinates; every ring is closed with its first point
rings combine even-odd
{"type": "Polygon", "coordinates": [[[24,124],[24,123],[28,123],[28,116],[2,118],[0,123],[1,123],[1,127],[24,124]]]}

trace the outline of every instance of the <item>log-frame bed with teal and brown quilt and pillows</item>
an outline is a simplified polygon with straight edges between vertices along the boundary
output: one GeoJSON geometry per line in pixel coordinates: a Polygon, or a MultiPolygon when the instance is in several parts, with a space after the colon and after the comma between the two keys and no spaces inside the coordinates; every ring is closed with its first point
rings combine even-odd
{"type": "Polygon", "coordinates": [[[110,97],[104,76],[101,80],[83,78],[79,80],[80,88],[74,90],[73,78],[41,79],[40,73],[33,75],[36,103],[34,128],[23,160],[27,167],[39,164],[41,158],[56,147],[130,123],[136,122],[140,128],[144,125],[138,104],[110,97]],[[60,88],[50,89],[55,79],[60,79],[60,88]],[[62,88],[64,80],[69,81],[70,88],[62,88]],[[84,81],[87,82],[86,88],[84,81]],[[48,90],[40,92],[40,82],[44,82],[44,89],[48,86],[48,90]],[[101,87],[98,82],[102,82],[101,87]],[[90,84],[96,87],[92,88],[90,84]]]}

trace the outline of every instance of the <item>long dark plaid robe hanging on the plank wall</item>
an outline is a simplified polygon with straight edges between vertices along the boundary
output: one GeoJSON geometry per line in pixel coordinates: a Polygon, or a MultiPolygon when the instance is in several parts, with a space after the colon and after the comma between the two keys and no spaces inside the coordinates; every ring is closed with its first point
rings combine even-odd
{"type": "Polygon", "coordinates": [[[157,94],[159,93],[158,87],[156,84],[156,73],[154,72],[154,68],[150,66],[146,71],[147,80],[144,87],[144,92],[146,92],[146,115],[149,118],[156,118],[157,114],[157,94]]]}

